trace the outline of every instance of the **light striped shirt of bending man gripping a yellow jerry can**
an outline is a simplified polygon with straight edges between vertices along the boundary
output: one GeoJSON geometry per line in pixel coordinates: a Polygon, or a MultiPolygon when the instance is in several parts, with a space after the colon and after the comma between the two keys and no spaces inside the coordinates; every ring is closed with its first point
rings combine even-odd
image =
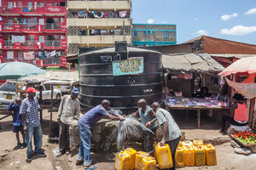
{"type": "Polygon", "coordinates": [[[169,111],[160,108],[156,111],[155,114],[162,132],[164,132],[164,122],[168,123],[169,133],[166,134],[166,141],[177,139],[181,136],[181,131],[177,126],[177,123],[173,120],[172,115],[171,113],[169,113],[169,111]]]}

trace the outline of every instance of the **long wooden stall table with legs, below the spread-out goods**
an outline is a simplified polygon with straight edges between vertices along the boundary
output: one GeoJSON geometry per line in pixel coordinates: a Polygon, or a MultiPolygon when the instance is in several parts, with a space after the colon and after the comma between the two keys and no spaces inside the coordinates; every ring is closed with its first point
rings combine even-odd
{"type": "Polygon", "coordinates": [[[214,106],[214,107],[207,107],[207,106],[198,106],[198,105],[168,105],[168,110],[183,110],[186,111],[186,118],[188,119],[188,111],[197,111],[197,127],[200,128],[201,122],[201,110],[227,110],[230,111],[230,107],[224,106],[214,106]]]}

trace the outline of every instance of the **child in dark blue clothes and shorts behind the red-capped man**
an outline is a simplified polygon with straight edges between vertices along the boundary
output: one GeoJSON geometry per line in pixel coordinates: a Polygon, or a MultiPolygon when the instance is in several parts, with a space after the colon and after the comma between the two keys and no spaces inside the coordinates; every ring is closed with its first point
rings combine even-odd
{"type": "Polygon", "coordinates": [[[20,104],[21,104],[21,99],[20,98],[16,98],[12,101],[12,103],[9,104],[7,111],[14,111],[13,112],[13,133],[16,133],[16,139],[17,139],[17,149],[23,149],[24,147],[26,147],[26,141],[25,141],[25,134],[23,131],[23,124],[21,122],[21,116],[19,114],[20,112],[20,104]],[[23,139],[23,143],[20,144],[20,136],[19,136],[19,132],[22,135],[22,139],[23,139]]]}

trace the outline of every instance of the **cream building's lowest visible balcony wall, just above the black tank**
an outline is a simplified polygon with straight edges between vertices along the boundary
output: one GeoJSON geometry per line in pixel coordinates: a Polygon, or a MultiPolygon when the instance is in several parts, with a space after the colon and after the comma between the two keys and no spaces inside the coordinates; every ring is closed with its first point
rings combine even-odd
{"type": "Polygon", "coordinates": [[[131,36],[123,35],[101,35],[101,36],[67,36],[67,43],[78,43],[85,44],[85,46],[98,46],[104,47],[113,45],[115,41],[127,41],[128,44],[131,44],[131,36]]]}

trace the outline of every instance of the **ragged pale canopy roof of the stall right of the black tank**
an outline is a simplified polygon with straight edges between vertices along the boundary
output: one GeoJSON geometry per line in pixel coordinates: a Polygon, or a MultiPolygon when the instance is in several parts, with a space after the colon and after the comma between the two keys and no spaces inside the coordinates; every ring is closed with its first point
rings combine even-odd
{"type": "Polygon", "coordinates": [[[220,65],[209,54],[163,54],[163,67],[177,71],[214,72],[223,71],[220,65]]]}

